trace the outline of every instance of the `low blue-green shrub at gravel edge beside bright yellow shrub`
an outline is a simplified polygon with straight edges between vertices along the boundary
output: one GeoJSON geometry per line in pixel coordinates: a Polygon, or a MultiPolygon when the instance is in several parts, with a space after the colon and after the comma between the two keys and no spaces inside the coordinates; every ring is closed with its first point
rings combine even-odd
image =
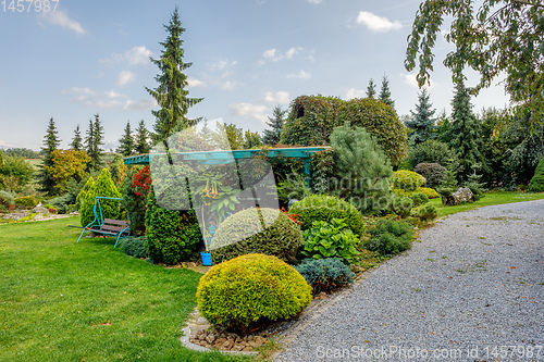
{"type": "Polygon", "coordinates": [[[355,276],[338,258],[305,259],[295,270],[311,286],[314,296],[351,284],[355,276]]]}

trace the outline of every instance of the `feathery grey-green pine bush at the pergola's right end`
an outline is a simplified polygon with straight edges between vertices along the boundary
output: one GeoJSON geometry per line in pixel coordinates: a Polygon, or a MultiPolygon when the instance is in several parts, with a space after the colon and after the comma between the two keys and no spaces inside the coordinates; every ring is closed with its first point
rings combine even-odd
{"type": "Polygon", "coordinates": [[[331,145],[337,154],[334,191],[361,212],[380,212],[391,197],[393,173],[381,147],[362,127],[334,128],[331,145]]]}

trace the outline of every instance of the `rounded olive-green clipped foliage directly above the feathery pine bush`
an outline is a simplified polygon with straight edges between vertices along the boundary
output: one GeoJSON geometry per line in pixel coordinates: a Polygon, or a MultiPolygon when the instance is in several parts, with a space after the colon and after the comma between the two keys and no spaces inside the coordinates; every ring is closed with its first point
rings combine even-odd
{"type": "MultiPolygon", "coordinates": [[[[338,110],[338,126],[363,127],[380,146],[393,166],[408,154],[406,128],[397,113],[376,99],[353,99],[338,110]]],[[[332,141],[331,141],[332,145],[332,141]]]]}

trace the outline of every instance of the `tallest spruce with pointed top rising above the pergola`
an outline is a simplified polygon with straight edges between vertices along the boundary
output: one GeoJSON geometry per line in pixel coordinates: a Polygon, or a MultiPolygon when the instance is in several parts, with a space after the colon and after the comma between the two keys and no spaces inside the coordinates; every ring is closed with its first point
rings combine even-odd
{"type": "Polygon", "coordinates": [[[194,126],[200,120],[188,120],[186,114],[189,107],[200,102],[202,98],[188,98],[187,76],[183,73],[193,63],[184,63],[183,40],[181,36],[185,32],[180,21],[177,7],[175,8],[169,25],[164,25],[169,37],[160,45],[164,48],[159,59],[151,61],[159,67],[160,74],[154,79],[159,86],[154,89],[146,90],[157,100],[159,111],[151,113],[157,117],[153,126],[153,140],[156,142],[164,140],[175,132],[194,126]]]}

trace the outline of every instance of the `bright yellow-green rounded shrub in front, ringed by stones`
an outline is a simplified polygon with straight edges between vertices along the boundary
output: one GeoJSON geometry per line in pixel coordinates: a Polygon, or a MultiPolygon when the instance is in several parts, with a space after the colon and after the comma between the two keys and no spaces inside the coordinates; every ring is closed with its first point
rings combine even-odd
{"type": "Polygon", "coordinates": [[[246,254],[212,266],[197,288],[200,314],[222,329],[246,334],[290,319],[311,301],[305,278],[275,257],[246,254]]]}

